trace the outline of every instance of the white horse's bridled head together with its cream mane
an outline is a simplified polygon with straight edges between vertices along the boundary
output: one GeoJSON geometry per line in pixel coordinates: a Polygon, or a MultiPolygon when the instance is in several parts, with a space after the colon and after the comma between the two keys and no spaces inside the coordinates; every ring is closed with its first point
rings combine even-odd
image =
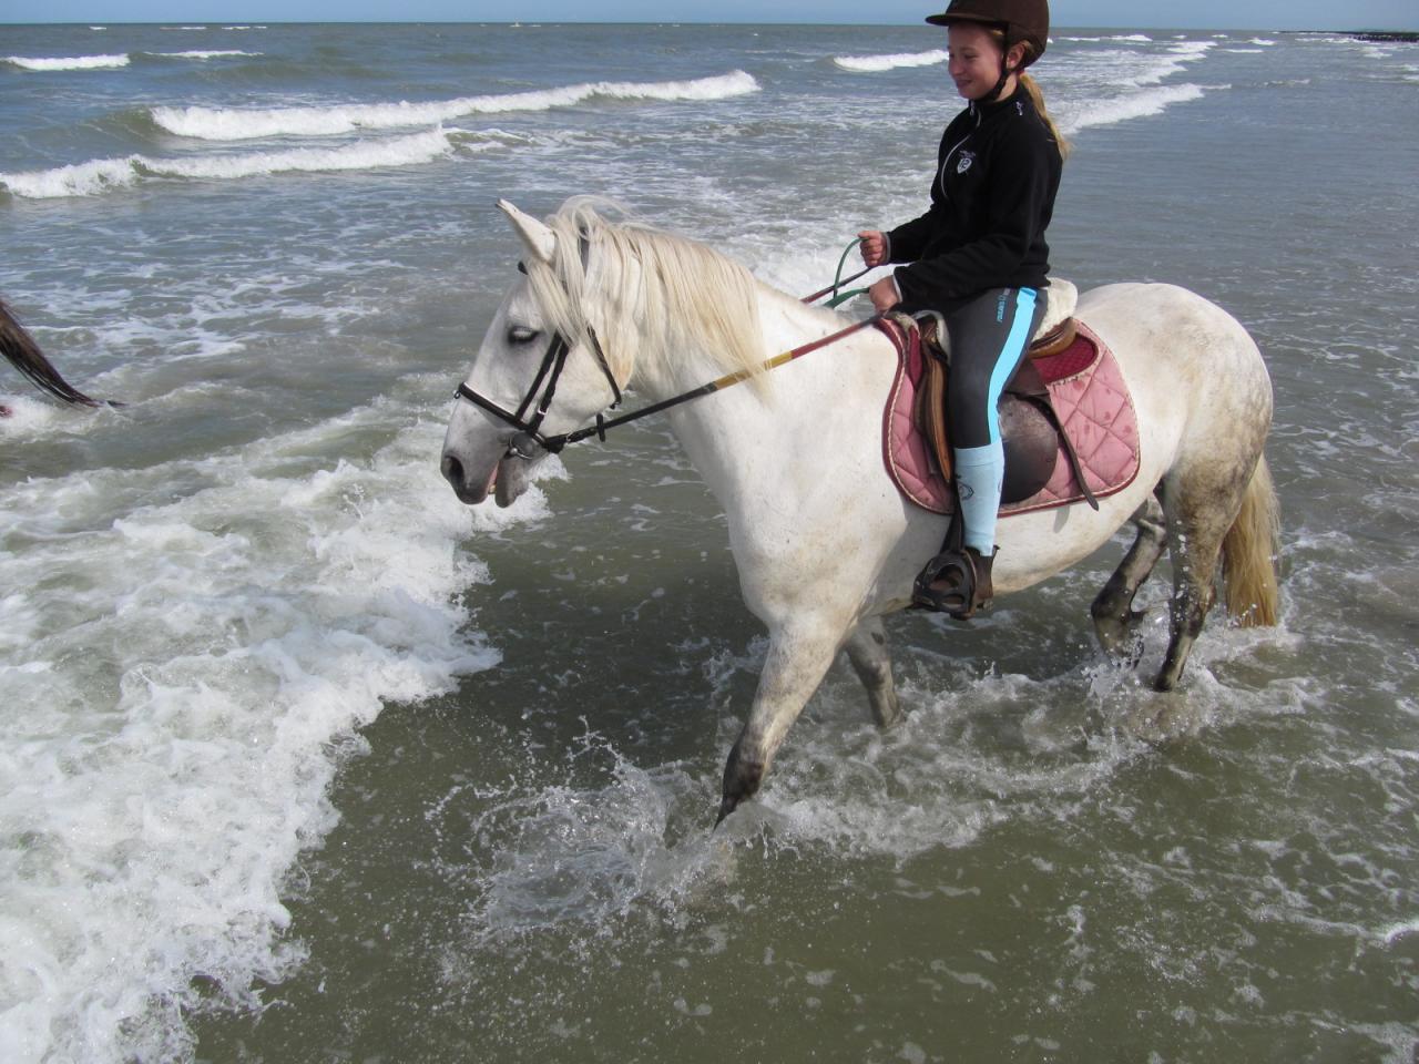
{"type": "Polygon", "coordinates": [[[758,372],[756,289],[744,267],[684,237],[613,224],[586,196],[546,223],[498,206],[524,255],[444,437],[443,475],[464,502],[497,489],[498,505],[511,505],[568,434],[595,431],[579,426],[619,403],[633,372],[647,397],[707,367],[758,372]]]}

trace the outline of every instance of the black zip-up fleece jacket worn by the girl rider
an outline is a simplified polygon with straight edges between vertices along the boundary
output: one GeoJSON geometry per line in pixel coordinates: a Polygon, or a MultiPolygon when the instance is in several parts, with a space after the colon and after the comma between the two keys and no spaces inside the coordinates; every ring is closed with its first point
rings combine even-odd
{"type": "Polygon", "coordinates": [[[1060,186],[1060,152],[1023,87],[972,102],[941,138],[931,209],[887,234],[898,309],[941,311],[988,288],[1043,288],[1044,228],[1060,186]]]}

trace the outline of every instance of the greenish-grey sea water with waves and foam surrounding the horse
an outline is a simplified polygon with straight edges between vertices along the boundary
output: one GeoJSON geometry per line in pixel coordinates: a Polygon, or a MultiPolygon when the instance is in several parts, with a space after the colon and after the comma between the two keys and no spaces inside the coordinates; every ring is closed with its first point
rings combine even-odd
{"type": "Polygon", "coordinates": [[[1213,616],[1178,692],[1166,566],[1137,667],[1090,636],[1118,541],[895,619],[907,724],[834,668],[711,834],[765,641],[664,424],[507,511],[438,477],[498,197],[816,289],[924,209],[942,48],[0,27],[0,294],[126,403],[0,377],[0,1058],[1412,1060],[1413,47],[1066,28],[1037,68],[1056,274],[1193,288],[1276,383],[1281,624],[1213,616]]]}

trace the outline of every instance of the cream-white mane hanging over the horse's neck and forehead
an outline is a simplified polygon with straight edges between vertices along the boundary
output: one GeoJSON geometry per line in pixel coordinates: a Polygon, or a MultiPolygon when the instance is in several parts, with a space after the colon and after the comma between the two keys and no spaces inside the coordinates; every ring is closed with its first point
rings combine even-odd
{"type": "Polygon", "coordinates": [[[613,223],[603,209],[620,210],[597,197],[569,199],[546,218],[556,233],[555,261],[526,262],[532,292],[552,325],[568,338],[583,336],[592,325],[622,382],[634,369],[673,372],[637,367],[637,355],[648,352],[695,350],[731,372],[756,370],[765,355],[759,282],[749,271],[687,237],[634,220],[613,223]],[[604,321],[587,322],[587,309],[604,321]]]}

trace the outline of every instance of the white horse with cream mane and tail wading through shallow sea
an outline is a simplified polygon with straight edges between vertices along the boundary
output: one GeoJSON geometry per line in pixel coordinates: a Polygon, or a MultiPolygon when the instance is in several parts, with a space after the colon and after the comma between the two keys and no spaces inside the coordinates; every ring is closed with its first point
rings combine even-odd
{"type": "MultiPolygon", "coordinates": [[[[545,457],[541,444],[586,426],[623,387],[664,400],[851,323],[708,247],[613,223],[587,199],[568,200],[545,223],[499,206],[524,244],[524,277],[460,389],[477,399],[457,403],[441,461],[470,505],[490,492],[509,505],[545,457]],[[539,404],[548,377],[555,394],[539,404]],[[538,406],[545,419],[529,424],[538,406]]],[[[1135,645],[1134,594],[1166,545],[1171,643],[1155,685],[1169,689],[1212,606],[1219,560],[1229,611],[1274,623],[1277,508],[1261,453],[1271,384],[1246,331],[1182,288],[1097,288],[1077,316],[1114,350],[1132,390],[1141,470],[1097,512],[1077,504],[1002,519],[995,590],[1074,565],[1132,519],[1137,539],[1094,600],[1094,624],[1107,650],[1135,645]]],[[[891,342],[864,329],[667,413],[724,506],[744,600],[769,630],[753,706],[725,766],[721,820],[758,790],[839,651],[867,687],[876,721],[901,718],[881,619],[911,604],[946,521],[908,504],[883,467],[895,367],[891,342]]]]}

